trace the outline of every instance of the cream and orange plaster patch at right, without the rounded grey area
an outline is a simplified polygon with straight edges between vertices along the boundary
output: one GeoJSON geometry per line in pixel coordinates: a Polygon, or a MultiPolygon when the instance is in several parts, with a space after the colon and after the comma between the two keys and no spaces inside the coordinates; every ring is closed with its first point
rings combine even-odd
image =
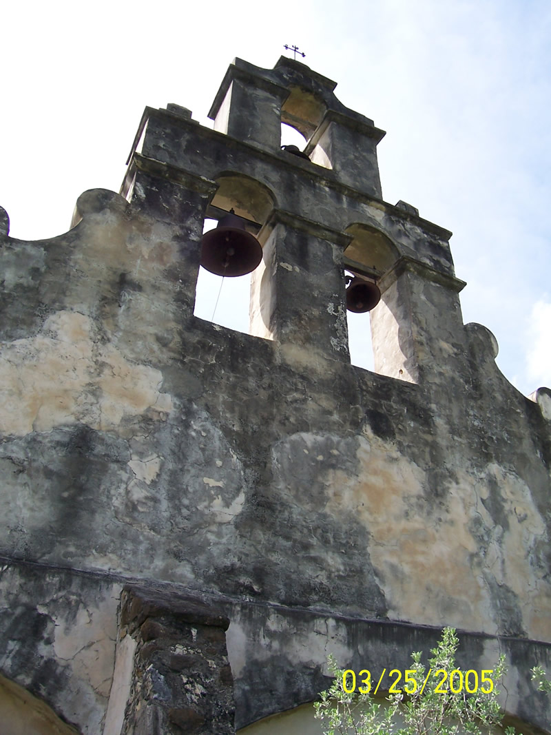
{"type": "Polygon", "coordinates": [[[457,479],[436,498],[428,493],[425,473],[388,446],[360,440],[358,453],[359,476],[347,487],[341,482],[339,493],[348,495],[346,505],[370,531],[371,562],[392,617],[429,625],[447,620],[459,627],[468,619],[475,630],[505,632],[494,622],[496,589],[489,589],[484,569],[498,587],[510,581],[511,604],[530,626],[530,636],[548,634],[548,623],[545,629],[538,624],[533,600],[525,595],[526,587],[539,584],[530,548],[534,536],[544,534],[544,521],[520,478],[497,465],[481,475],[454,467],[457,479]],[[496,478],[503,512],[511,519],[508,528],[483,506],[489,476],[496,478]]]}

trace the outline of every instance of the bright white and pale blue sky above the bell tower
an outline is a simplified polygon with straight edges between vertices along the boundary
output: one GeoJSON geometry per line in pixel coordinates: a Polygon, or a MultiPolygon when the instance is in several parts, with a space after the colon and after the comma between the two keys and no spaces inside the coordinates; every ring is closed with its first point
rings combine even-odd
{"type": "Polygon", "coordinates": [[[549,0],[10,2],[0,205],[13,237],[65,232],[82,191],[120,187],[146,104],[207,123],[234,57],[272,68],[296,43],[386,130],[383,198],[454,232],[464,321],[527,394],[551,386],[550,37],[549,0]]]}

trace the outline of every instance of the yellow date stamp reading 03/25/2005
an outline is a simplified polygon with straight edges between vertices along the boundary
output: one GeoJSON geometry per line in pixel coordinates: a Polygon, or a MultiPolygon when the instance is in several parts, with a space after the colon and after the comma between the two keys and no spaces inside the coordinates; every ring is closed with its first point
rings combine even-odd
{"type": "MultiPolygon", "coordinates": [[[[383,686],[383,689],[387,689],[389,694],[402,694],[406,692],[408,695],[417,693],[421,695],[427,681],[429,681],[432,675],[431,685],[434,686],[433,691],[436,694],[448,694],[449,692],[452,694],[460,694],[461,692],[467,692],[467,694],[476,694],[476,692],[490,694],[490,692],[494,691],[494,681],[491,678],[493,673],[493,669],[482,669],[480,673],[475,669],[469,669],[467,671],[462,671],[461,669],[453,669],[453,671],[436,669],[433,671],[429,669],[424,680],[418,681],[417,675],[419,675],[419,672],[415,669],[392,669],[388,674],[391,684],[388,689],[386,686],[383,686]]],[[[352,669],[347,669],[342,672],[342,689],[347,694],[353,694],[357,690],[360,694],[372,694],[375,696],[385,675],[386,668],[381,672],[375,689],[372,691],[374,680],[369,669],[362,669],[357,674],[352,669]]]]}

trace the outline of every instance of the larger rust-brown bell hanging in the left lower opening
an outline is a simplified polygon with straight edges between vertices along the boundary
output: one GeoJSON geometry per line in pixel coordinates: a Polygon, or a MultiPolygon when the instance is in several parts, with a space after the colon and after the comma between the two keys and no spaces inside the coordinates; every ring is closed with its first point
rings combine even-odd
{"type": "Polygon", "coordinates": [[[201,265],[217,276],[245,276],[261,260],[262,246],[233,209],[203,235],[201,265]]]}

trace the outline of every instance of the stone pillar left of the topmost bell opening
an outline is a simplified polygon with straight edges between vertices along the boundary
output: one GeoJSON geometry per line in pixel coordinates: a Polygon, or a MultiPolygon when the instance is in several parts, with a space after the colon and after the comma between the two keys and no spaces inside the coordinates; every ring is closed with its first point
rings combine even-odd
{"type": "Polygon", "coordinates": [[[235,59],[212,103],[209,118],[215,121],[215,130],[278,151],[281,105],[289,96],[289,90],[259,71],[256,66],[235,59]]]}

